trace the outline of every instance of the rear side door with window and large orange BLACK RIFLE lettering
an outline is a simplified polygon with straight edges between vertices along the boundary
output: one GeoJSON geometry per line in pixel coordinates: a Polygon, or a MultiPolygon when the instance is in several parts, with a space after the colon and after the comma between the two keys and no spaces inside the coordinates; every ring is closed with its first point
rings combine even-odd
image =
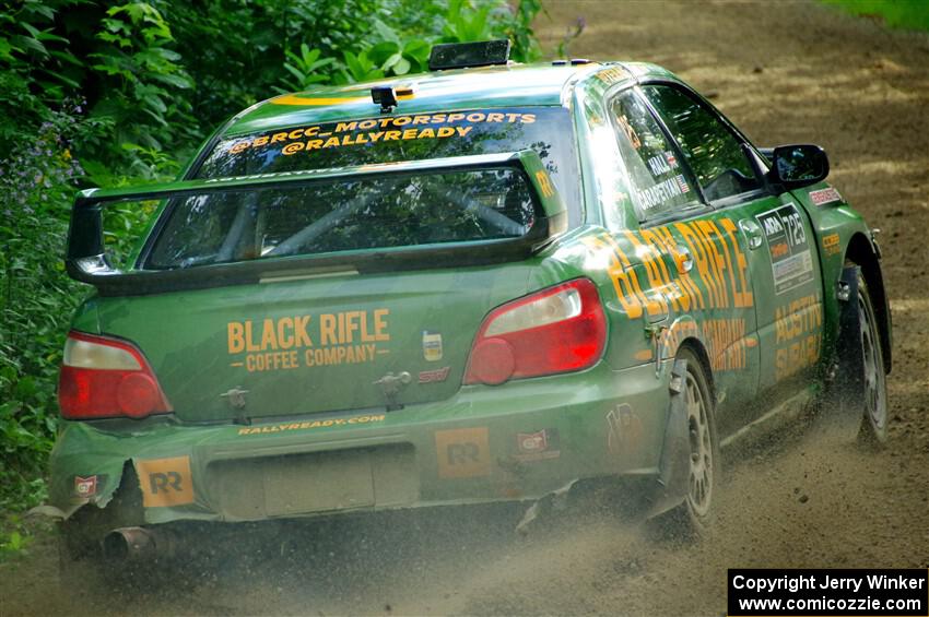
{"type": "Polygon", "coordinates": [[[622,91],[608,108],[639,222],[638,229],[616,230],[616,241],[633,245],[649,287],[662,290],[671,337],[704,342],[720,429],[728,432],[745,420],[744,403],[756,394],[760,371],[745,239],[731,213],[703,198],[686,157],[640,93],[622,91]],[[655,251],[660,260],[649,254],[655,251]],[[656,284],[666,277],[672,284],[656,284]]]}

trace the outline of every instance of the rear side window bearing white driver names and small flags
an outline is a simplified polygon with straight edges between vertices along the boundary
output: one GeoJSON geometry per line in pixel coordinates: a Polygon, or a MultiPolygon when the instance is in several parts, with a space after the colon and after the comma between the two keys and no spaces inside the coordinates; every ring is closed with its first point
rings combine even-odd
{"type": "Polygon", "coordinates": [[[661,127],[637,95],[628,90],[610,103],[620,154],[632,182],[639,221],[662,218],[699,206],[690,179],[661,127]]]}

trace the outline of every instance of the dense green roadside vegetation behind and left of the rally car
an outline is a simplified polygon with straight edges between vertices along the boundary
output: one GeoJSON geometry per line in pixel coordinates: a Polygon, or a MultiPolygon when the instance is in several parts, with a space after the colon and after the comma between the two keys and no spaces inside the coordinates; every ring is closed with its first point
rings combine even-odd
{"type": "MultiPolygon", "coordinates": [[[[0,7],[0,560],[46,497],[56,380],[86,288],[61,260],[74,191],[175,177],[232,114],[282,92],[426,70],[435,43],[541,56],[541,0],[24,0],[0,7]]],[[[117,211],[107,240],[143,213],[117,211]]]]}

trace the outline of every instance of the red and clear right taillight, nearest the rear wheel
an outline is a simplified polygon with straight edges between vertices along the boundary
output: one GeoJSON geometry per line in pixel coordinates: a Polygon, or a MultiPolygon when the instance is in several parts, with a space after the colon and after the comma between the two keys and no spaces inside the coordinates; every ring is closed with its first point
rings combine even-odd
{"type": "Polygon", "coordinates": [[[478,331],[465,383],[583,370],[607,344],[607,317],[597,287],[578,278],[494,309],[478,331]]]}

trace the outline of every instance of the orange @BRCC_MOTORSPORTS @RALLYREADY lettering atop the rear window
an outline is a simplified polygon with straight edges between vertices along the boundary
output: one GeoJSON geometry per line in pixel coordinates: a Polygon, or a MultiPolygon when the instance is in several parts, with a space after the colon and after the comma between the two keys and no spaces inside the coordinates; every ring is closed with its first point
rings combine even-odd
{"type": "Polygon", "coordinates": [[[474,124],[531,124],[534,121],[534,114],[494,111],[390,116],[297,127],[287,131],[247,138],[232,144],[228,152],[242,154],[271,145],[281,147],[282,154],[291,156],[298,152],[387,141],[463,138],[473,130],[474,124]]]}

